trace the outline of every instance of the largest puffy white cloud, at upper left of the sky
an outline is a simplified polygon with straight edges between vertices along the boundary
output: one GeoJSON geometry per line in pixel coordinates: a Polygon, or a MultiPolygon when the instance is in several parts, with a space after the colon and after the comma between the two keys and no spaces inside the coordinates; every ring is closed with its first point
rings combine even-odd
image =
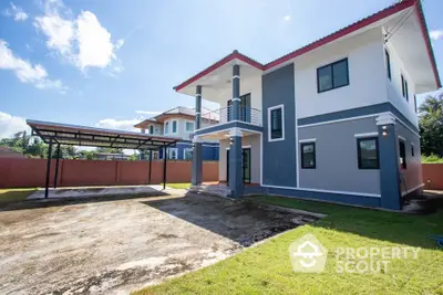
{"type": "MultiPolygon", "coordinates": [[[[61,0],[47,0],[44,15],[34,21],[35,28],[48,38],[47,46],[82,71],[104,69],[117,61],[115,51],[124,40],[114,44],[111,33],[91,11],[82,11],[76,18],[69,17],[71,14],[61,0]]],[[[114,72],[121,71],[123,66],[114,72]]]]}

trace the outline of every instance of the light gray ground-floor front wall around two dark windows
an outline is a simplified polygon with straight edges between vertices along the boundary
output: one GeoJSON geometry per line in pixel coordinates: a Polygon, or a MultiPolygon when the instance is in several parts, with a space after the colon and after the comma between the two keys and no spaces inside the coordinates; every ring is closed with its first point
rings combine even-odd
{"type": "Polygon", "coordinates": [[[354,136],[377,131],[375,118],[299,128],[299,140],[317,139],[316,169],[302,169],[300,160],[300,189],[380,194],[379,170],[365,170],[358,167],[354,136]]]}

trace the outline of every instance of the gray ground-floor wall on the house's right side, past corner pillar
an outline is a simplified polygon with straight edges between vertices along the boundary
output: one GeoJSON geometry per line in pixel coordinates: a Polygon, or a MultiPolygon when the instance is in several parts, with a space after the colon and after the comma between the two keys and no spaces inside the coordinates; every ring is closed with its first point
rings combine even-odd
{"type": "MultiPolygon", "coordinates": [[[[411,190],[423,183],[422,178],[422,159],[420,156],[420,138],[413,134],[410,129],[403,126],[403,124],[396,123],[398,136],[404,137],[406,148],[406,169],[400,169],[403,173],[404,181],[401,182],[401,191],[411,190]],[[411,144],[414,145],[414,157],[412,157],[411,144]]],[[[398,155],[400,157],[400,147],[398,155]]]]}

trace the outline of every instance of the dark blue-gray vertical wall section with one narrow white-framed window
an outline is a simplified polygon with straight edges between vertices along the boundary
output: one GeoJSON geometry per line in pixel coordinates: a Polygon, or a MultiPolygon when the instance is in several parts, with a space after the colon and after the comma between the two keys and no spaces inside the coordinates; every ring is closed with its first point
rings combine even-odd
{"type": "Polygon", "coordinates": [[[293,64],[262,76],[262,185],[296,187],[296,94],[293,64]],[[285,105],[285,140],[268,141],[268,108],[285,105]]]}

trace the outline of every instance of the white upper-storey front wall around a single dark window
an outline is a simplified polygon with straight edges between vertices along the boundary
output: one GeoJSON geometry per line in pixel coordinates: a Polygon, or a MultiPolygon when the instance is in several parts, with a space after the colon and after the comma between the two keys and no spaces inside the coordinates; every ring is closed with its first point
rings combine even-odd
{"type": "Polygon", "coordinates": [[[381,29],[301,55],[295,61],[295,80],[298,118],[387,102],[381,29]],[[344,57],[349,85],[318,93],[317,69],[344,57]]]}

